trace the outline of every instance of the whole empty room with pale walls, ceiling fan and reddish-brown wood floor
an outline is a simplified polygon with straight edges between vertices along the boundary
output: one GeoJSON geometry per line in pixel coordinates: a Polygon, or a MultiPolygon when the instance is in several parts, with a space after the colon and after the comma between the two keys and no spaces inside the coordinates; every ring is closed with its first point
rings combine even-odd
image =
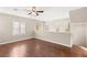
{"type": "Polygon", "coordinates": [[[0,7],[0,57],[87,56],[86,33],[86,7],[0,7]]]}

